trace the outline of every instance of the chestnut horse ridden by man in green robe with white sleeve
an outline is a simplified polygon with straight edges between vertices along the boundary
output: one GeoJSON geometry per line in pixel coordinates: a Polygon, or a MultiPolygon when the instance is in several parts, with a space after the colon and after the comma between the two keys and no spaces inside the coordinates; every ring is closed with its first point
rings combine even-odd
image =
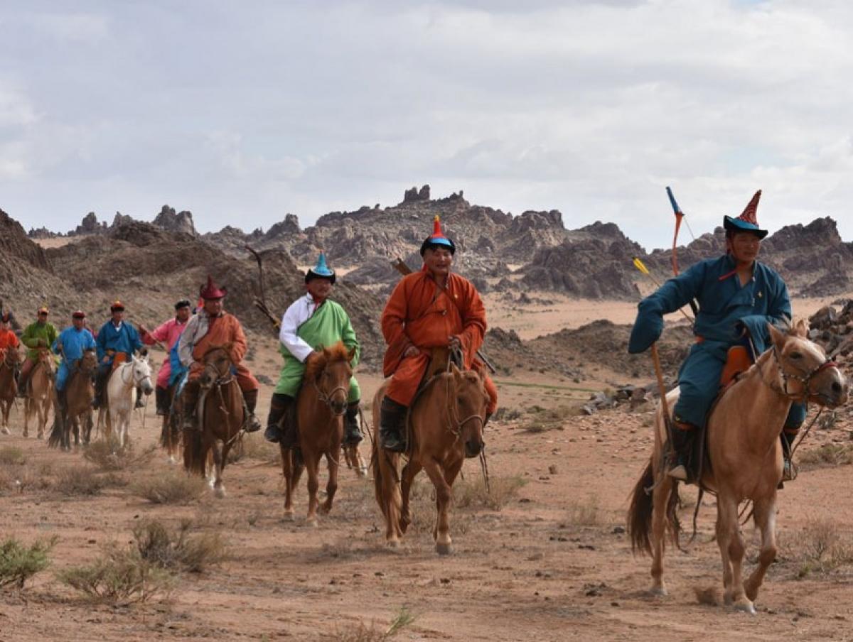
{"type": "Polygon", "coordinates": [[[296,396],[296,422],[299,426],[299,451],[302,460],[296,461],[293,450],[281,448],[281,467],[284,472],[285,518],[293,519],[293,489],[299,483],[302,468],[308,472],[308,516],[306,522],[317,525],[317,479],[320,458],[326,455],[328,483],[326,501],[320,506],[324,515],[332,510],[334,493],[338,489],[340,442],[344,438],[346,396],[350,390],[355,348],[347,350],[341,342],[323,348],[311,356],[302,375],[302,385],[296,396]]]}

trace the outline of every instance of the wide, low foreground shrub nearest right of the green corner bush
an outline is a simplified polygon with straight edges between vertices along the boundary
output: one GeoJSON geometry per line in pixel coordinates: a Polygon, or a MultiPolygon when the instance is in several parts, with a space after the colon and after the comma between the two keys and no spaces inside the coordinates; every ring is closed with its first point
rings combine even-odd
{"type": "Polygon", "coordinates": [[[61,570],[56,579],[89,599],[111,604],[147,602],[171,594],[175,576],[142,559],[136,551],[113,548],[92,564],[61,570]]]}

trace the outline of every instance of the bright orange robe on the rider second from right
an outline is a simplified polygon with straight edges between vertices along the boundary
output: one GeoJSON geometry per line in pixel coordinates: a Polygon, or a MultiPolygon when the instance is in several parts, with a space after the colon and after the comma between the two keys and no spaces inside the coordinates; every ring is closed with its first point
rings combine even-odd
{"type": "MultiPolygon", "coordinates": [[[[450,274],[442,292],[426,269],[403,277],[382,311],[382,334],[388,347],[382,373],[391,377],[386,390],[393,401],[409,406],[423,379],[432,348],[446,346],[450,336],[459,337],[465,367],[483,371],[476,352],[485,335],[485,307],[471,281],[450,274]],[[416,356],[404,357],[409,347],[416,356]]],[[[488,413],[497,408],[497,389],[486,375],[488,413]]]]}

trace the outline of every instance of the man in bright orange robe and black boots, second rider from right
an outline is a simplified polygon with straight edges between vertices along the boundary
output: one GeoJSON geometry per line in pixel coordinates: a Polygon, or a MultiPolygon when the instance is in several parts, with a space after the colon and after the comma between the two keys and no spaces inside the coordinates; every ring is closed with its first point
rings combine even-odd
{"type": "MultiPolygon", "coordinates": [[[[380,442],[393,452],[406,448],[406,412],[432,348],[457,348],[466,368],[483,370],[476,353],[485,335],[485,307],[473,283],[450,272],[455,253],[456,244],[435,217],[432,234],[421,245],[423,268],[397,283],[382,311],[382,334],[388,344],[382,372],[391,381],[380,407],[380,442]]],[[[485,388],[488,421],[497,408],[497,389],[488,376],[485,388]]]]}

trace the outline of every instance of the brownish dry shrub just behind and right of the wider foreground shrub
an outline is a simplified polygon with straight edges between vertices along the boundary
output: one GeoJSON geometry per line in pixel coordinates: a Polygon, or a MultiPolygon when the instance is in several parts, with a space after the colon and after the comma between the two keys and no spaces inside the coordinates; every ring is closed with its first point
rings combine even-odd
{"type": "Polygon", "coordinates": [[[193,521],[184,519],[177,529],[167,529],[157,520],[143,522],[133,529],[139,556],[162,569],[201,573],[221,564],[227,550],[219,533],[191,535],[193,521]]]}

